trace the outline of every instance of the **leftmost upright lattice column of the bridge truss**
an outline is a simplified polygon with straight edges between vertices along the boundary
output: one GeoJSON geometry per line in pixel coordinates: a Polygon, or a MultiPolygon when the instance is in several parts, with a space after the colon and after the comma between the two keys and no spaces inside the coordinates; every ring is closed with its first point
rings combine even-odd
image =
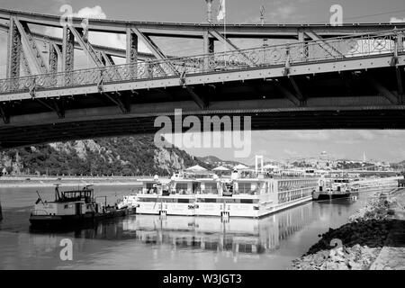
{"type": "Polygon", "coordinates": [[[14,22],[14,17],[10,18],[7,48],[7,78],[15,78],[20,76],[20,60],[23,47],[21,34],[14,22]]]}

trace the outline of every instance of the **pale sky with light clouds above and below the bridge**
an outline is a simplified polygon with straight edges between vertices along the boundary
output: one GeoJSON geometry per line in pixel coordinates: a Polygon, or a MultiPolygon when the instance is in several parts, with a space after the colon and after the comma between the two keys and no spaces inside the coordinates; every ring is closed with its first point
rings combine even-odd
{"type": "MultiPolygon", "coordinates": [[[[0,0],[1,8],[61,14],[59,8],[70,4],[79,16],[129,21],[205,23],[204,0],[0,0]]],[[[215,18],[219,0],[213,0],[215,18]]],[[[405,22],[404,0],[228,0],[227,23],[260,23],[260,6],[266,10],[266,23],[329,23],[332,4],[343,8],[345,23],[405,22]]],[[[0,34],[0,46],[4,41],[0,34]]],[[[100,38],[123,45],[119,38],[100,38]]],[[[191,46],[190,46],[191,47],[191,46]]],[[[143,49],[142,47],[140,49],[143,49]]],[[[175,52],[174,50],[171,52],[175,52]]],[[[198,54],[200,51],[196,51],[198,54]]],[[[4,51],[0,50],[4,56],[4,51]]],[[[5,62],[0,57],[0,76],[5,62]]],[[[405,159],[405,130],[293,130],[253,131],[250,156],[239,159],[252,163],[254,155],[269,159],[316,157],[321,151],[339,158],[367,158],[399,162],[405,159]]],[[[232,148],[186,148],[196,156],[213,155],[237,159],[232,148]]]]}

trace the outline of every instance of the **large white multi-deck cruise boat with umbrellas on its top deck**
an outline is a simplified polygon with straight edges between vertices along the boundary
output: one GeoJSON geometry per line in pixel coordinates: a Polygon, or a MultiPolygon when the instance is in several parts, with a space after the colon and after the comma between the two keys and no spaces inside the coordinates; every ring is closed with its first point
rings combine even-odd
{"type": "Polygon", "coordinates": [[[181,172],[141,179],[137,214],[259,218],[311,201],[318,177],[275,178],[252,170],[230,177],[181,172]]]}

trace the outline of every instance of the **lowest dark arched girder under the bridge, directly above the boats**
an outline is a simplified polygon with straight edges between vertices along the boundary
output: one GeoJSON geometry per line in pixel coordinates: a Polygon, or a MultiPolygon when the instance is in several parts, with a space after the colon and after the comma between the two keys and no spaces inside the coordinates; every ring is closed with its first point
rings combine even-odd
{"type": "MultiPolygon", "coordinates": [[[[220,113],[216,115],[222,116],[220,113]]],[[[240,116],[239,113],[226,115],[240,116]]],[[[405,129],[405,108],[340,112],[258,112],[243,113],[243,116],[251,116],[252,130],[405,129]]],[[[202,115],[197,117],[202,121],[202,115]]],[[[173,117],[171,118],[174,122],[173,117]]],[[[73,139],[150,134],[159,129],[154,127],[154,121],[155,117],[138,117],[3,129],[0,149],[73,139]]]]}

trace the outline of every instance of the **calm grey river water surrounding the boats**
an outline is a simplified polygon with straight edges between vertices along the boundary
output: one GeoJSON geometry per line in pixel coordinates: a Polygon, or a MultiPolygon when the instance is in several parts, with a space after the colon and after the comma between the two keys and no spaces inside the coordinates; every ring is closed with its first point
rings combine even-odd
{"type": "MultiPolygon", "coordinates": [[[[108,202],[130,186],[95,187],[108,202]]],[[[356,201],[307,202],[264,219],[131,215],[91,229],[30,230],[36,188],[0,188],[0,269],[289,269],[329,228],[338,228],[374,192],[356,201]],[[62,239],[73,260],[61,260],[62,239]]],[[[38,188],[53,200],[53,188],[38,188]]]]}

